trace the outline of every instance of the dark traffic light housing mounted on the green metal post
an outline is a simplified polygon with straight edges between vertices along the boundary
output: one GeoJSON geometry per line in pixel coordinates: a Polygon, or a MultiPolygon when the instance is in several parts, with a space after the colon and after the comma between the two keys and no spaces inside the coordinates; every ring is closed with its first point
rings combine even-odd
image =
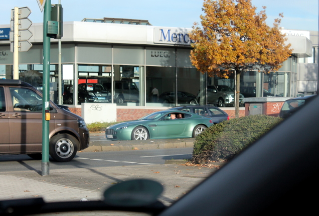
{"type": "Polygon", "coordinates": [[[56,39],[61,39],[63,36],[63,7],[61,4],[52,4],[47,36],[56,39]]]}

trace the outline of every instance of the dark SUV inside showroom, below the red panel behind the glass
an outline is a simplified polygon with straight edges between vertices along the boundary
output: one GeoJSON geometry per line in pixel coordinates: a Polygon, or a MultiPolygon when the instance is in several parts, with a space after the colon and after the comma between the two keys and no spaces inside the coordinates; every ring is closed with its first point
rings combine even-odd
{"type": "Polygon", "coordinates": [[[98,83],[81,83],[78,86],[78,102],[109,102],[108,91],[98,83]]]}

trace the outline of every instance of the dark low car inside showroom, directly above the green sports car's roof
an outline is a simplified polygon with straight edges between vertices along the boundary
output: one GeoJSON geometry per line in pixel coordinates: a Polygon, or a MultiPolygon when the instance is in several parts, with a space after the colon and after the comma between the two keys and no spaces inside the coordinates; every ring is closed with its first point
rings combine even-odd
{"type": "MultiPolygon", "coordinates": [[[[162,103],[175,103],[176,92],[166,91],[159,95],[158,101],[162,103]]],[[[197,104],[197,99],[194,94],[185,91],[177,92],[177,102],[178,103],[190,103],[197,104]]]]}

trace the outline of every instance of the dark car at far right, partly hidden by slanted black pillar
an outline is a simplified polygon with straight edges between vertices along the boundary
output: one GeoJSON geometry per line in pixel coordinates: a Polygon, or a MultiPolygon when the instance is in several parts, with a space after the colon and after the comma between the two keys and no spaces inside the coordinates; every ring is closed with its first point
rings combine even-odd
{"type": "Polygon", "coordinates": [[[293,114],[295,111],[300,109],[301,106],[309,102],[310,100],[314,99],[314,96],[316,94],[311,94],[311,95],[305,95],[305,96],[300,96],[300,97],[294,97],[287,99],[279,112],[279,117],[286,118],[289,117],[291,114],[293,114]]]}

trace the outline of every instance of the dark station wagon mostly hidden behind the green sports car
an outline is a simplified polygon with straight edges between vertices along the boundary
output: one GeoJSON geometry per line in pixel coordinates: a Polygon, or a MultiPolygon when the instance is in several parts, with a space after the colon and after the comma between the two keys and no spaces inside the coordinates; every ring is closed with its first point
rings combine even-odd
{"type": "Polygon", "coordinates": [[[229,120],[229,115],[224,110],[212,105],[174,106],[169,109],[188,111],[202,116],[211,117],[214,124],[224,120],[229,120]]]}

